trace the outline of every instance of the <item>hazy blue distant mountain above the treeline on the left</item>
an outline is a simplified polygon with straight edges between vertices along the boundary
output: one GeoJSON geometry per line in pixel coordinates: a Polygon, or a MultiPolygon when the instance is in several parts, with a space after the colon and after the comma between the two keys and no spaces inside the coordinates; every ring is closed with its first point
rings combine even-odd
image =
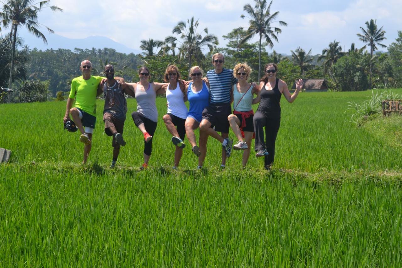
{"type": "Polygon", "coordinates": [[[25,34],[22,32],[20,37],[24,39],[24,44],[27,44],[30,49],[36,47],[39,50],[46,50],[51,48],[53,49],[64,48],[74,50],[74,48],[76,47],[80,49],[86,49],[86,48],[91,49],[92,47],[95,47],[96,49],[98,48],[103,49],[107,47],[116,49],[117,52],[125,54],[141,53],[141,51],[137,49],[126,47],[125,45],[117,43],[116,41],[113,41],[112,39],[104,36],[89,36],[83,39],[72,39],[57,34],[47,34],[46,35],[47,44],[43,43],[42,39],[36,38],[29,33],[25,34]]]}

